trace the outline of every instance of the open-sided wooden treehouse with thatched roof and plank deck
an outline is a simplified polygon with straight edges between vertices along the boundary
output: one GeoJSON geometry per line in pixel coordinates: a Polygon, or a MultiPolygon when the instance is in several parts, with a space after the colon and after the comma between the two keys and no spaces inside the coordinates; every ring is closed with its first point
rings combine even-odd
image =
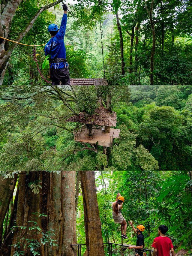
{"type": "Polygon", "coordinates": [[[80,123],[73,129],[75,141],[110,147],[113,138],[119,138],[120,130],[112,128],[116,126],[116,112],[109,112],[104,107],[97,108],[92,116],[81,112],[66,121],[80,123]]]}

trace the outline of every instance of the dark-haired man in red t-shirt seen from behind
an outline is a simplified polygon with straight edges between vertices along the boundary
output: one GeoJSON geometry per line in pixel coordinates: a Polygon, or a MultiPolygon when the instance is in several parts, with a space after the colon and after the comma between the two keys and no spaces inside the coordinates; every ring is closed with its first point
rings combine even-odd
{"type": "Polygon", "coordinates": [[[173,250],[173,244],[171,239],[165,236],[168,228],[165,225],[160,225],[158,229],[159,236],[153,240],[152,247],[154,248],[153,256],[170,256],[170,250],[172,256],[175,256],[173,250]]]}

